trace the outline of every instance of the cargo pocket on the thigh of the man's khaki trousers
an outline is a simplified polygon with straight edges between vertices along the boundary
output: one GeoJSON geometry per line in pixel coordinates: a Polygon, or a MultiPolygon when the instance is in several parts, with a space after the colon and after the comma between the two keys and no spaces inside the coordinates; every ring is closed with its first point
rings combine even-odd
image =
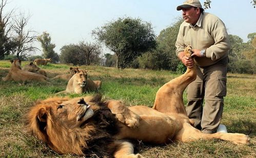
{"type": "Polygon", "coordinates": [[[227,78],[223,76],[217,77],[216,96],[223,97],[227,95],[227,78]]]}

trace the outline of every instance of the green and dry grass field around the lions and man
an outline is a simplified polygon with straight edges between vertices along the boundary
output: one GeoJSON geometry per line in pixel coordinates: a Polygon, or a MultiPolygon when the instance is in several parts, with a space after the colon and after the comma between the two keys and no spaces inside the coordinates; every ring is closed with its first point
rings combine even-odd
{"type": "MultiPolygon", "coordinates": [[[[22,66],[28,62],[23,62],[22,66]]],[[[0,77],[10,67],[9,61],[0,61],[0,77]]],[[[49,78],[66,73],[69,65],[48,64],[41,66],[49,78]]],[[[100,92],[104,97],[123,100],[127,105],[152,107],[156,91],[166,82],[180,74],[169,71],[142,69],[118,70],[101,66],[82,66],[92,80],[102,80],[100,92]]],[[[37,100],[54,96],[65,89],[67,82],[19,83],[0,81],[0,156],[1,157],[75,157],[59,155],[41,141],[26,134],[23,116],[37,100]]],[[[173,142],[167,145],[151,145],[137,142],[136,152],[145,157],[256,157],[256,76],[228,74],[228,94],[222,123],[229,132],[249,134],[248,146],[233,145],[229,142],[196,141],[191,143],[173,142]]],[[[93,93],[89,93],[93,94],[93,93]]],[[[70,94],[70,97],[88,94],[70,94]]],[[[185,103],[186,93],[184,94],[185,103]]]]}

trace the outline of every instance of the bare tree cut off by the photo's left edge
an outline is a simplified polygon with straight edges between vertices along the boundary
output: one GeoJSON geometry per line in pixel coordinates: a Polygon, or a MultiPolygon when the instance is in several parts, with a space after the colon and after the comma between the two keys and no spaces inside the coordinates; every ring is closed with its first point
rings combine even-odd
{"type": "Polygon", "coordinates": [[[0,3],[0,60],[9,55],[15,47],[15,42],[12,41],[9,33],[11,30],[11,16],[14,13],[12,9],[9,13],[4,14],[4,8],[7,1],[2,0],[0,3]]]}

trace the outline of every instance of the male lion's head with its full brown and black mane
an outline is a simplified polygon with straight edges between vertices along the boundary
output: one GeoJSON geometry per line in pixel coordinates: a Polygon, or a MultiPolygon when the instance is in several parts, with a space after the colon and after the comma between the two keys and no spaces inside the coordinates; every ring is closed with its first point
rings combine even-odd
{"type": "Polygon", "coordinates": [[[26,126],[58,153],[111,155],[116,120],[103,105],[101,97],[49,98],[29,110],[26,126]]]}

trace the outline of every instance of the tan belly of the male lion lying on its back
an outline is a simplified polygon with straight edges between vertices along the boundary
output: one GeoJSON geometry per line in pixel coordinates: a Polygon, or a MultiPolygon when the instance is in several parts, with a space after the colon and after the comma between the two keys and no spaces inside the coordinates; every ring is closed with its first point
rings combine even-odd
{"type": "Polygon", "coordinates": [[[117,139],[134,139],[162,144],[170,141],[181,129],[173,118],[152,108],[134,106],[129,109],[140,115],[140,125],[137,128],[130,128],[121,124],[121,130],[116,135],[117,139]]]}

